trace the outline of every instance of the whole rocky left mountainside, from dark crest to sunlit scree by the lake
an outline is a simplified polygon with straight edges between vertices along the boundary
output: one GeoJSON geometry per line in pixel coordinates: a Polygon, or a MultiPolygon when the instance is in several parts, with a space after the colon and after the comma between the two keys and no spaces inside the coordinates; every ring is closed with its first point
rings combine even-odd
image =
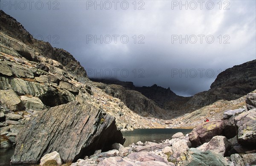
{"type": "MultiPolygon", "coordinates": [[[[151,121],[151,118],[140,116],[134,111],[135,107],[130,110],[123,101],[98,88],[67,51],[33,39],[20,23],[3,11],[0,21],[0,91],[1,94],[9,91],[13,94],[1,95],[1,119],[2,113],[5,117],[5,114],[17,114],[19,111],[22,112],[19,118],[27,121],[34,115],[31,113],[79,101],[100,107],[105,113],[115,117],[117,126],[122,129],[164,128],[164,121],[151,121]],[[10,25],[13,28],[8,28],[10,25]],[[16,104],[8,103],[11,98],[17,100],[14,102],[16,104]]],[[[144,99],[150,101],[148,98],[144,99]]],[[[150,102],[148,105],[151,105],[150,102]]],[[[153,116],[147,113],[144,105],[141,106],[141,115],[153,116]]],[[[151,110],[152,113],[155,110],[157,108],[151,110]]],[[[3,122],[6,120],[3,118],[3,122]]],[[[15,124],[20,125],[20,122],[15,124]]],[[[1,127],[9,127],[9,124],[1,124],[1,127]]]]}

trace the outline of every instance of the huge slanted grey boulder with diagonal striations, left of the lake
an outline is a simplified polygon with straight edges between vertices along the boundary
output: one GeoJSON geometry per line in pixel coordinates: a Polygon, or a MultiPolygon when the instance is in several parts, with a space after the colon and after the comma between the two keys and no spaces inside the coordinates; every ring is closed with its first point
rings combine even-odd
{"type": "Polygon", "coordinates": [[[73,101],[43,110],[17,135],[12,164],[39,163],[50,152],[58,152],[64,162],[92,155],[124,143],[115,118],[90,103],[73,101]]]}

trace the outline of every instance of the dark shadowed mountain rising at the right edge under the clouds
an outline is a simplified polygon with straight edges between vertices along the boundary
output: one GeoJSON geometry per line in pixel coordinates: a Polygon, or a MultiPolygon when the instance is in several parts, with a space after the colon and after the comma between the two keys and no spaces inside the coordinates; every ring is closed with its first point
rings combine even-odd
{"type": "Polygon", "coordinates": [[[193,96],[188,107],[204,107],[218,100],[235,100],[256,89],[256,60],[236,65],[221,72],[211,89],[193,96]]]}

